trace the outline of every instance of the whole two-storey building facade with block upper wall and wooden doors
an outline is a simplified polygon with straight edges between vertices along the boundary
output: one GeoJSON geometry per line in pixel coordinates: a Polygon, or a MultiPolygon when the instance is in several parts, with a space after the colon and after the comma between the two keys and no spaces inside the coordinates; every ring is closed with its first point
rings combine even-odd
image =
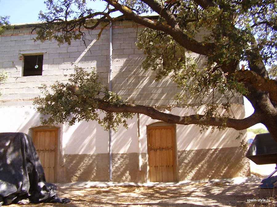
{"type": "MultiPolygon", "coordinates": [[[[100,28],[84,30],[86,45],[74,40],[70,46],[34,42],[34,26],[16,25],[0,36],[0,69],[8,73],[0,85],[0,132],[33,137],[48,181],[177,182],[250,174],[245,151],[235,140],[246,130],[208,128],[201,133],[196,125],[172,125],[141,114],[117,132],[105,131],[94,121],[42,125],[32,105],[39,87],[66,82],[75,66],[96,68],[102,81],[111,82],[111,90],[130,103],[176,115],[191,111],[172,107],[178,89],[168,77],[155,82],[154,72],[142,69],[143,51],[135,45],[139,25],[116,22],[97,41],[100,28]]],[[[245,116],[242,97],[235,99],[232,110],[236,118],[245,116]]]]}

